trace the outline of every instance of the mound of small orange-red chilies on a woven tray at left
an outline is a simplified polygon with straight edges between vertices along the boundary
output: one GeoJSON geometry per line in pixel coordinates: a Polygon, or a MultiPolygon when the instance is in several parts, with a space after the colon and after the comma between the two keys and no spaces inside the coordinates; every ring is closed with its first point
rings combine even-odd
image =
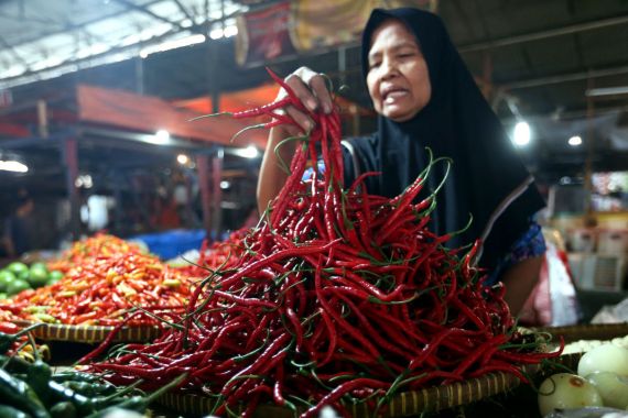
{"type": "Polygon", "coordinates": [[[129,319],[128,314],[183,309],[193,286],[190,277],[158,257],[110,235],[76,243],[54,265],[66,272],[62,279],[20,293],[0,304],[0,311],[34,322],[153,324],[160,322],[145,315],[129,319]]]}

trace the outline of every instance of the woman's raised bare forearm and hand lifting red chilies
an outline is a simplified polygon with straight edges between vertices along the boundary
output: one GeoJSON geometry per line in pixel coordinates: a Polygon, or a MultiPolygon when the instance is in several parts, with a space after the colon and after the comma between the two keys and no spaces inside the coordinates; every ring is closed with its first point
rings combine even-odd
{"type": "MultiPolygon", "coordinates": [[[[332,111],[332,96],[327,90],[325,79],[318,73],[307,67],[301,67],[288,76],[285,82],[308,110],[313,112],[323,111],[325,113],[332,111]]],[[[277,100],[281,100],[285,96],[286,92],[281,89],[277,100]]],[[[288,174],[281,168],[274,153],[277,145],[286,138],[304,135],[304,133],[310,132],[314,128],[312,119],[293,106],[282,110],[294,120],[296,125],[280,125],[271,129],[269,133],[257,187],[257,201],[260,213],[266,211],[269,202],[279,194],[279,190],[281,190],[288,179],[288,174]]],[[[289,141],[279,148],[279,154],[286,164],[290,164],[295,148],[295,141],[289,141]]]]}

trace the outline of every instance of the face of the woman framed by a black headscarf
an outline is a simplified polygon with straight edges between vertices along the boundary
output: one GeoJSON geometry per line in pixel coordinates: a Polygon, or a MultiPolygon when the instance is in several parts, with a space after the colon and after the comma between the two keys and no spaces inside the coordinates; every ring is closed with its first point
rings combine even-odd
{"type": "Polygon", "coordinates": [[[430,101],[427,63],[416,38],[402,22],[390,19],[375,30],[368,65],[368,91],[378,113],[403,122],[430,101]]]}

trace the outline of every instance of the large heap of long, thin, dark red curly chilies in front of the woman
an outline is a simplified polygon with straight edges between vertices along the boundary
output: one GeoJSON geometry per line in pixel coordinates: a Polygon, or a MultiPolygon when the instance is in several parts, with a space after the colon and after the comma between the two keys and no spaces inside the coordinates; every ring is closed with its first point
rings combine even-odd
{"type": "MultiPolygon", "coordinates": [[[[274,77],[274,76],[273,76],[274,77]]],[[[307,110],[285,84],[280,101],[237,113],[307,110]]],[[[127,345],[90,365],[112,383],[156,388],[188,373],[182,391],[214,397],[212,415],[251,416],[273,402],[303,417],[351,403],[375,414],[399,391],[452,383],[559,355],[526,352],[504,287],[481,284],[448,237],[430,232],[434,196],[415,201],[426,172],[394,199],[368,195],[365,176],[343,189],[337,112],[312,113],[291,175],[237,263],[212,270],[185,315],[150,345],[127,345]],[[307,166],[317,167],[303,180],[307,166]]]]}

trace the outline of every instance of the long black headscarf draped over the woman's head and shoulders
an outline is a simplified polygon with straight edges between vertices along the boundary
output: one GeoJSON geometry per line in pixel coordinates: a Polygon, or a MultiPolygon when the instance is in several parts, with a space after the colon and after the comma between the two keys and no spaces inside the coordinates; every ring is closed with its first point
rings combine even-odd
{"type": "MultiPolygon", "coordinates": [[[[368,179],[367,189],[370,194],[393,197],[426,166],[426,147],[435,157],[451,157],[452,169],[436,197],[432,228],[440,234],[457,231],[473,216],[472,227],[447,245],[457,248],[473,243],[490,229],[479,264],[491,270],[527,231],[531,216],[544,206],[543,199],[533,184],[526,187],[526,183],[531,182],[528,170],[463,64],[440,18],[410,8],[373,10],[362,35],[365,78],[372,34],[391,18],[403,22],[416,37],[427,64],[432,96],[413,119],[394,122],[379,116],[378,131],[373,135],[349,141],[358,156],[359,172],[381,172],[381,176],[368,179]],[[492,224],[498,208],[508,196],[517,195],[518,188],[522,194],[492,224]]],[[[345,161],[346,177],[350,179],[354,160],[346,155],[345,161]]],[[[438,185],[444,168],[444,164],[434,166],[427,189],[438,185]]]]}

